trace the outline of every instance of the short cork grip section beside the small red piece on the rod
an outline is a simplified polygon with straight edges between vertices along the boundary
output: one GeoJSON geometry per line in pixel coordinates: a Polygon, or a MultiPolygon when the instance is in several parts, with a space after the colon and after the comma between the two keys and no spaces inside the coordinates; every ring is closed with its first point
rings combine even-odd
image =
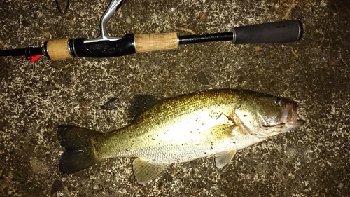
{"type": "Polygon", "coordinates": [[[68,42],[69,39],[49,40],[46,45],[48,57],[52,61],[73,58],[69,53],[68,42]]]}

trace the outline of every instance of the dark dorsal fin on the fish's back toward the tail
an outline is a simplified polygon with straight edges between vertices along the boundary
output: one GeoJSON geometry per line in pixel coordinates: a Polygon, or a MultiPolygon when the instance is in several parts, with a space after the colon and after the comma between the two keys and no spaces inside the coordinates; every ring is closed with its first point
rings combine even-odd
{"type": "Polygon", "coordinates": [[[129,107],[130,117],[136,119],[144,111],[151,109],[155,104],[163,100],[162,97],[153,95],[135,95],[129,107]]]}

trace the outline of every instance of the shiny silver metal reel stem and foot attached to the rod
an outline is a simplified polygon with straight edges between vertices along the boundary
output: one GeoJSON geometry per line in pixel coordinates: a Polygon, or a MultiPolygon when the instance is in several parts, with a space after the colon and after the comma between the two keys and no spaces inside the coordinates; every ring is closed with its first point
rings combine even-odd
{"type": "Polygon", "coordinates": [[[109,19],[112,17],[112,15],[114,13],[116,13],[117,8],[118,8],[121,1],[123,1],[123,0],[112,0],[111,1],[111,4],[109,4],[109,7],[104,12],[104,15],[102,15],[102,18],[101,18],[101,24],[99,27],[101,33],[99,34],[99,36],[97,38],[85,40],[84,43],[92,43],[92,42],[99,42],[99,41],[116,41],[116,40],[120,39],[118,37],[109,36],[109,33],[107,32],[107,25],[108,25],[109,19]]]}

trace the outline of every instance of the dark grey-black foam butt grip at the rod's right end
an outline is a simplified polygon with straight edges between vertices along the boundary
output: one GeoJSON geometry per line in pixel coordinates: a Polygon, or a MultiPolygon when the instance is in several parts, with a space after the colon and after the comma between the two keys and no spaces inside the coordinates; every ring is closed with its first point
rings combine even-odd
{"type": "Polygon", "coordinates": [[[302,37],[300,20],[283,20],[260,25],[235,27],[233,43],[288,43],[302,37]]]}

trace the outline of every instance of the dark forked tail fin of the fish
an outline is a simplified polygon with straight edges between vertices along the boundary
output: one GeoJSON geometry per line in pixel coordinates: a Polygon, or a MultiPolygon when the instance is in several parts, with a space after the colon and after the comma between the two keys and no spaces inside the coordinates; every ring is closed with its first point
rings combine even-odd
{"type": "Polygon", "coordinates": [[[66,149],[59,162],[64,174],[78,172],[99,162],[92,144],[92,137],[101,133],[72,125],[59,125],[57,135],[66,149]]]}

